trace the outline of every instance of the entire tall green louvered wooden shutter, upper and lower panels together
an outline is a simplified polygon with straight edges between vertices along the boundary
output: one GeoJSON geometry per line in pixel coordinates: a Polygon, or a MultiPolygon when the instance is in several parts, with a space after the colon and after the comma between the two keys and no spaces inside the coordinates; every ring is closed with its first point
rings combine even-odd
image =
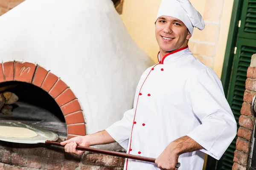
{"type": "MultiPolygon", "coordinates": [[[[237,121],[238,128],[244,98],[245,80],[247,79],[247,69],[250,66],[253,54],[256,54],[256,0],[244,0],[241,26],[236,43],[236,54],[227,95],[227,100],[237,121]]],[[[218,161],[217,170],[232,170],[236,139],[237,136],[218,161]]]]}

